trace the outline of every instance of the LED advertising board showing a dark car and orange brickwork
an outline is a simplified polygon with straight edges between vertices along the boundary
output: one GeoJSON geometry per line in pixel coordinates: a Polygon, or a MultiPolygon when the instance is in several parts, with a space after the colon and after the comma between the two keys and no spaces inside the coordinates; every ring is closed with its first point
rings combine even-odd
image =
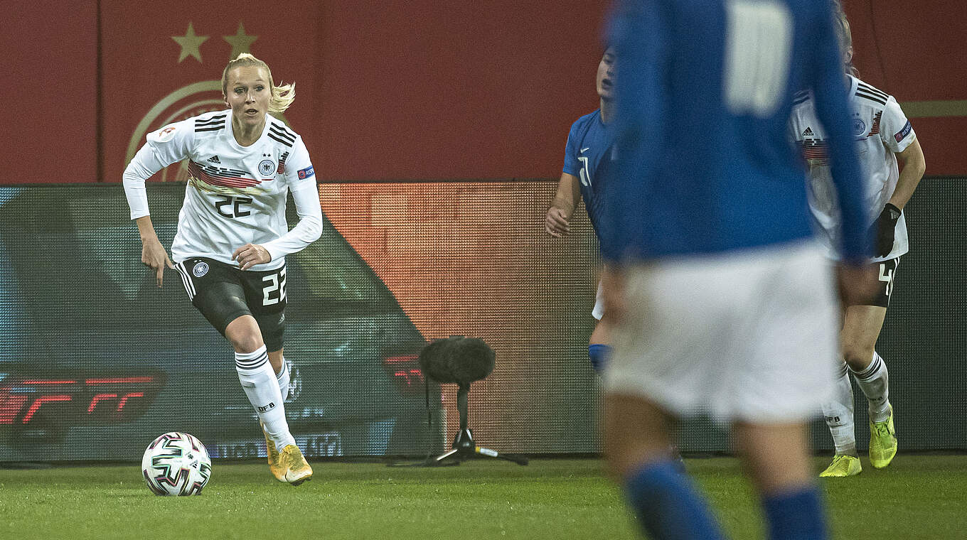
{"type": "MultiPolygon", "coordinates": [[[[430,386],[429,430],[416,353],[452,334],[480,336],[497,353],[470,391],[479,441],[526,453],[601,450],[601,387],[587,357],[597,245],[584,213],[564,239],[542,233],[554,185],[323,186],[325,235],[287,258],[286,358],[300,391],[285,408],[310,456],[423,455],[449,444],[454,384],[430,386]]],[[[183,190],[149,186],[162,242],[183,190]]],[[[911,250],[877,348],[903,452],[967,450],[965,196],[967,179],[927,179],[906,208],[911,250]]],[[[230,347],[175,274],[155,286],[126,214],[114,185],[0,186],[0,462],[134,459],[172,430],[218,457],[264,455],[230,347]]],[[[855,395],[864,447],[865,400],[855,395]]],[[[829,449],[829,431],[814,427],[814,446],[829,449]]],[[[686,452],[730,450],[727,433],[703,418],[683,424],[679,439],[686,452]]]]}

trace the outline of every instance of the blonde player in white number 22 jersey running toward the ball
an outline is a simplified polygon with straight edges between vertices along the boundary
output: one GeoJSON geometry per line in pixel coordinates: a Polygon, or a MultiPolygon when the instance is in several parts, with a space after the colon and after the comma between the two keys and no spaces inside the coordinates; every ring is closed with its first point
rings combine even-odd
{"type": "Polygon", "coordinates": [[[295,99],[295,86],[275,86],[272,71],[243,53],[222,71],[231,110],[206,113],[149,133],[124,172],[141,262],[178,270],[194,305],[235,349],[239,381],[265,434],[269,467],[280,482],[299,485],[312,469],[289,433],[283,402],[288,369],[282,357],[285,255],[317,240],[322,211],[302,138],[268,113],[295,99]],[[145,181],[188,158],[190,173],[171,259],[158,240],[145,181]],[[285,220],[288,193],[299,223],[285,220]],[[172,264],[171,260],[176,264],[172,264]]]}

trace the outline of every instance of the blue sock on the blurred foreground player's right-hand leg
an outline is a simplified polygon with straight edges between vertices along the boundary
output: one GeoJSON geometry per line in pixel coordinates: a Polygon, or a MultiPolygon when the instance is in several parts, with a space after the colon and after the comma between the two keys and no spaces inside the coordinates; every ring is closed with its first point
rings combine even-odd
{"type": "Polygon", "coordinates": [[[826,540],[826,516],[819,488],[806,486],[794,492],[763,497],[762,507],[773,540],[826,540]]]}

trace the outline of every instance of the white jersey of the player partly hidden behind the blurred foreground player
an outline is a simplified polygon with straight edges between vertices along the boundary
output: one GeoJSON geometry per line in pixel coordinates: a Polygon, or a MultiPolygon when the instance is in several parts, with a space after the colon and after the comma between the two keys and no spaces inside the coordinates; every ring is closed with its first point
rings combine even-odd
{"type": "MultiPolygon", "coordinates": [[[[895,153],[903,152],[917,138],[899,104],[890,96],[862,80],[850,76],[850,104],[853,108],[853,131],[857,153],[863,165],[866,207],[872,224],[894,195],[899,168],[895,153]]],[[[819,229],[820,241],[831,259],[839,259],[839,212],[835,187],[830,174],[826,134],[816,116],[813,99],[798,95],[789,121],[789,135],[802,151],[809,168],[809,208],[819,229]]],[[[894,248],[886,257],[893,259],[907,252],[906,219],[903,213],[896,221],[894,248]]]]}

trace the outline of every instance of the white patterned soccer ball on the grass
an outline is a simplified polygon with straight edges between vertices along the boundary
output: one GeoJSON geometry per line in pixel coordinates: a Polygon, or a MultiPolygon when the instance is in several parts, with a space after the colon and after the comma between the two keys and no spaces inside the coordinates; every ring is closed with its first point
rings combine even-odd
{"type": "Polygon", "coordinates": [[[212,458],[197,437],[173,431],[148,445],[141,473],[155,495],[200,495],[212,477],[212,458]]]}

